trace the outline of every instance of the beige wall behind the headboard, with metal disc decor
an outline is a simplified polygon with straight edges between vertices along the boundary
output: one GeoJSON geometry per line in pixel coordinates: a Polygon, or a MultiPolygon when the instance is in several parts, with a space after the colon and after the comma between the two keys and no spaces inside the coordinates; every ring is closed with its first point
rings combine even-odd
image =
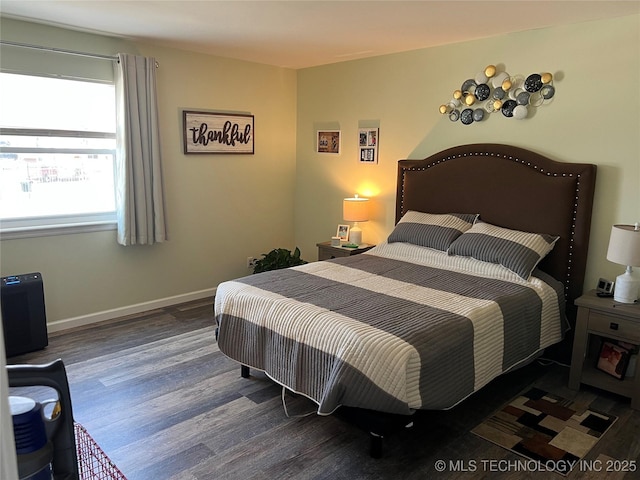
{"type": "Polygon", "coordinates": [[[598,165],[586,284],[614,278],[613,223],[640,221],[640,16],[540,29],[298,72],[295,238],[304,253],[335,235],[342,203],[372,195],[363,240],[393,228],[397,160],[465,143],[507,143],[598,165]],[[486,65],[512,75],[549,71],[557,94],[523,121],[494,114],[469,126],[438,113],[486,65]],[[359,126],[379,126],[379,164],[358,163],[359,126]],[[342,131],[339,156],[314,153],[317,128],[342,131]]]}

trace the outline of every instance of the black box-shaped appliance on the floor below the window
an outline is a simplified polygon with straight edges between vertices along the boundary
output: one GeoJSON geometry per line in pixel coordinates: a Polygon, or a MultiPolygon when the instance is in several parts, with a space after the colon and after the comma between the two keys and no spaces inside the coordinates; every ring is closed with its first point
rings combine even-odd
{"type": "Polygon", "coordinates": [[[42,350],[49,343],[40,273],[2,277],[2,328],[7,357],[42,350]]]}

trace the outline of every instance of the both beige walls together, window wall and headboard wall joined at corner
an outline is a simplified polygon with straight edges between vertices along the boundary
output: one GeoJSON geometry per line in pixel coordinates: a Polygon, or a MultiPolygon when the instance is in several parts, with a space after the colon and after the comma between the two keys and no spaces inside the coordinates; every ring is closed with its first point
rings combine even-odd
{"type": "MultiPolygon", "coordinates": [[[[49,321],[213,290],[248,273],[247,256],[302,249],[343,223],[341,200],[374,199],[364,240],[393,227],[396,161],[474,142],[511,143],[598,165],[587,284],[615,277],[605,259],[612,223],[640,220],[640,16],[541,29],[298,72],[2,20],[2,38],[95,53],[154,56],[171,239],[121,247],[114,232],[2,240],[2,275],[40,271],[49,321]],[[488,64],[550,71],[557,96],[533,118],[463,126],[437,113],[488,64]],[[185,156],[181,109],[250,112],[256,153],[185,156]],[[359,126],[380,127],[380,162],[360,165],[359,126]],[[315,153],[320,128],[342,131],[339,156],[315,153]]],[[[4,67],[4,64],[3,64],[4,67]]]]}

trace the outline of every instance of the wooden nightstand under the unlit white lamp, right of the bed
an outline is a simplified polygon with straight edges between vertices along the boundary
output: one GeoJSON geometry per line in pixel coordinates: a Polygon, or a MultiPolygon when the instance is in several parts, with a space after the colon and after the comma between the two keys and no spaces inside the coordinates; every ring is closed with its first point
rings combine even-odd
{"type": "Polygon", "coordinates": [[[602,388],[631,398],[631,408],[640,410],[640,372],[637,359],[635,374],[619,380],[596,368],[603,338],[640,345],[640,305],[618,303],[600,298],[592,290],[576,300],[578,317],[573,340],[569,388],[580,383],[602,388]]]}

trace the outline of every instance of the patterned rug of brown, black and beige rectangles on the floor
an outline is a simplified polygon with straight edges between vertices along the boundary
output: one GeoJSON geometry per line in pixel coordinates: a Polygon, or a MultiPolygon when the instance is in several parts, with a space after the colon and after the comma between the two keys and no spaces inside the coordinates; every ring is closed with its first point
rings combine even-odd
{"type": "Polygon", "coordinates": [[[593,410],[589,405],[532,388],[472,432],[566,475],[616,420],[617,417],[593,410]]]}

